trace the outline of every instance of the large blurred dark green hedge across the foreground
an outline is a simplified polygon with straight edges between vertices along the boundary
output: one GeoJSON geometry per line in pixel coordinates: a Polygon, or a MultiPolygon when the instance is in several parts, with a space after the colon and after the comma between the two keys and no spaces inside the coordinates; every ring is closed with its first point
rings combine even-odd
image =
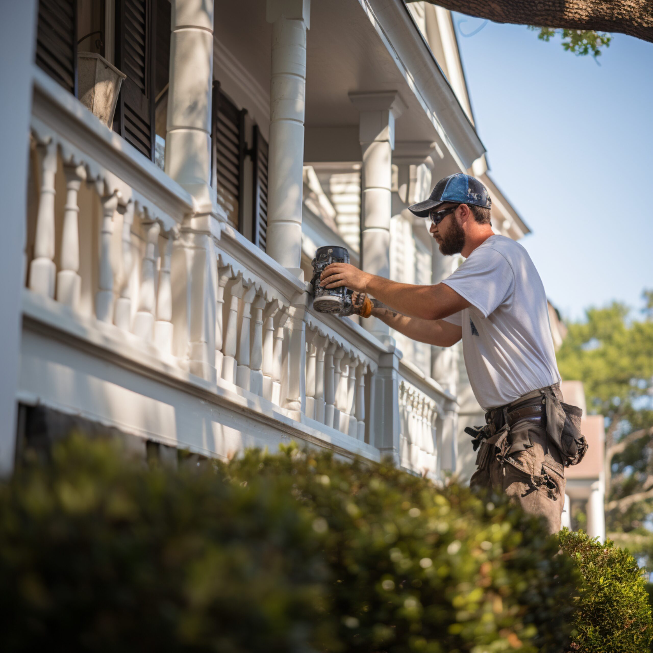
{"type": "Polygon", "coordinates": [[[146,470],[72,438],[0,488],[0,637],[7,651],[558,653],[577,592],[557,552],[516,507],[388,464],[289,447],[146,470]]]}

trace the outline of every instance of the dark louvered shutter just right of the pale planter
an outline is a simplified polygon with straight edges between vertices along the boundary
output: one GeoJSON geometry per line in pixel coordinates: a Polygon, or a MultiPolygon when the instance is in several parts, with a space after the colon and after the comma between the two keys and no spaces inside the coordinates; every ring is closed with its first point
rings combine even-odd
{"type": "Polygon", "coordinates": [[[154,159],[154,0],[117,0],[116,67],[127,75],[116,108],[114,129],[154,159]]]}

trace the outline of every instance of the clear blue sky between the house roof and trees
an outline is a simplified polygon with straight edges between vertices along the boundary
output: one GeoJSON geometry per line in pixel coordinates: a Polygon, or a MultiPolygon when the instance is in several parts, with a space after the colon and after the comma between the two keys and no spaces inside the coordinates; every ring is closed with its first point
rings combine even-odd
{"type": "Polygon", "coordinates": [[[616,34],[597,65],[520,25],[454,14],[490,176],[564,317],[653,288],[653,43],[616,34]]]}

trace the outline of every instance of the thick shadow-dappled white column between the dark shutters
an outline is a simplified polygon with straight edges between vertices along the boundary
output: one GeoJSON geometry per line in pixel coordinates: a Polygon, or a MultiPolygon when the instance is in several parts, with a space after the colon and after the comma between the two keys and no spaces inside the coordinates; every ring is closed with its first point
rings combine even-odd
{"type": "Polygon", "coordinates": [[[211,95],[214,0],[172,0],[165,171],[212,210],[211,95]]]}

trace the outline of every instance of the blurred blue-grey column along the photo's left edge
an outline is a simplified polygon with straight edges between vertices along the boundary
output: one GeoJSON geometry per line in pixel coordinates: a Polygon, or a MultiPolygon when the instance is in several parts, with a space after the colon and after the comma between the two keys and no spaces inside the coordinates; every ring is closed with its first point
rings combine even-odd
{"type": "Polygon", "coordinates": [[[16,390],[20,357],[21,296],[25,282],[25,225],[32,74],[36,44],[36,0],[5,3],[0,20],[0,142],[3,198],[0,238],[0,475],[14,468],[16,390]],[[7,89],[11,89],[8,92],[7,89]],[[7,216],[10,216],[7,217],[7,216]]]}

